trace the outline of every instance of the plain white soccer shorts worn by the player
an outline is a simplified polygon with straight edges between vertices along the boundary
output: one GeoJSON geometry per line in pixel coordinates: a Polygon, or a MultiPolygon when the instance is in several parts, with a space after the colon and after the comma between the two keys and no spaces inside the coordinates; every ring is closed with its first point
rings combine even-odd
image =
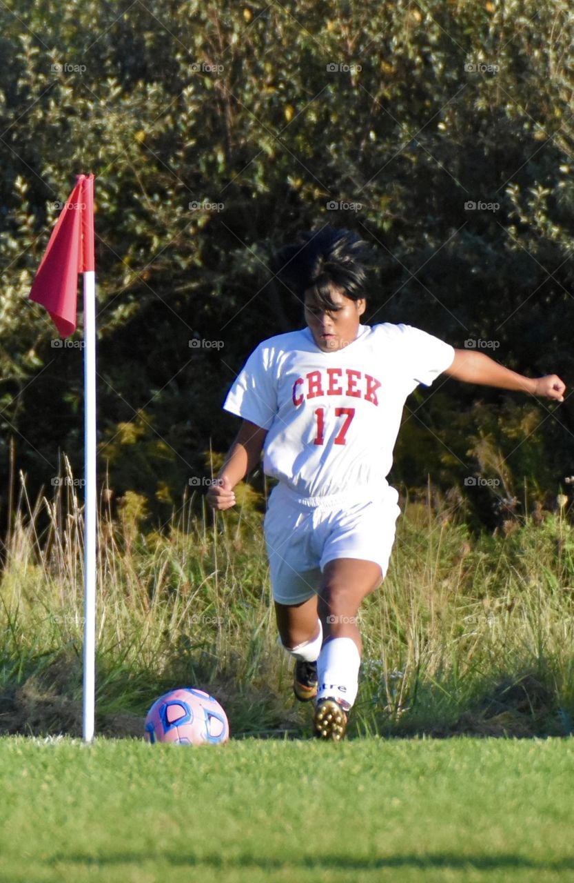
{"type": "Polygon", "coordinates": [[[325,565],[336,558],[376,562],[385,577],[398,498],[394,487],[386,487],[379,500],[369,500],[369,490],[301,498],[285,484],[274,487],[264,520],[273,599],[287,605],[308,600],[319,591],[325,565]]]}

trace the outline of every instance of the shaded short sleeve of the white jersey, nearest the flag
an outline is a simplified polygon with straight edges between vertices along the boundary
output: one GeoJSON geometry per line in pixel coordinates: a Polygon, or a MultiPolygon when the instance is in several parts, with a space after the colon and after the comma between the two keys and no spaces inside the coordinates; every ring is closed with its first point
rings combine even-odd
{"type": "Polygon", "coordinates": [[[265,343],[259,344],[237,374],[223,408],[262,429],[269,429],[272,425],[278,410],[277,384],[272,350],[265,343]]]}

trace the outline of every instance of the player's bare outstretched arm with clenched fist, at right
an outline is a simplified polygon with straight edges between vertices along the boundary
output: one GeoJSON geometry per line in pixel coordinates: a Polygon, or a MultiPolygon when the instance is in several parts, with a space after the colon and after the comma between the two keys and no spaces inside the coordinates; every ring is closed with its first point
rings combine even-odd
{"type": "Polygon", "coordinates": [[[554,398],[558,402],[564,401],[566,384],[556,374],[547,374],[546,377],[525,377],[524,374],[517,374],[510,368],[499,365],[494,358],[489,358],[484,352],[455,350],[452,365],[444,374],[449,374],[465,383],[516,389],[531,396],[545,396],[554,398]]]}

